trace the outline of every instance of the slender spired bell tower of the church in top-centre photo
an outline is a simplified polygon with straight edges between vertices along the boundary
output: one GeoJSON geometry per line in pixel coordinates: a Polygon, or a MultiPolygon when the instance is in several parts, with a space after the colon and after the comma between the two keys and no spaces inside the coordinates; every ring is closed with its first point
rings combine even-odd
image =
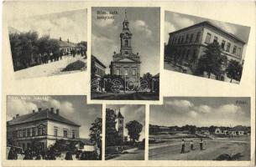
{"type": "Polygon", "coordinates": [[[132,33],[129,30],[129,22],[127,18],[127,11],[125,9],[123,19],[123,31],[120,33],[121,47],[120,52],[124,56],[129,56],[132,53],[131,39],[132,33]]]}

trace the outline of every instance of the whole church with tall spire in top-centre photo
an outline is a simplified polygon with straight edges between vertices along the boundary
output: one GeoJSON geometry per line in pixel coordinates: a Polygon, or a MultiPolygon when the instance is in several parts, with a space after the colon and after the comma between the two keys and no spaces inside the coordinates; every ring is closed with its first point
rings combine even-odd
{"type": "Polygon", "coordinates": [[[124,80],[131,81],[130,84],[138,85],[140,78],[140,56],[132,50],[132,33],[129,30],[127,13],[123,20],[123,32],[120,33],[120,53],[112,56],[113,60],[109,66],[112,75],[120,75],[124,80]]]}

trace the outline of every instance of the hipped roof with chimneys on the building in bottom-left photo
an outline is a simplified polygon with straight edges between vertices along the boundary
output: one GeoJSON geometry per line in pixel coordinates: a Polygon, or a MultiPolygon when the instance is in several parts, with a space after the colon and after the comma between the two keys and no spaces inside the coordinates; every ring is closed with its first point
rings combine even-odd
{"type": "Polygon", "coordinates": [[[31,123],[34,121],[39,121],[39,120],[53,120],[56,122],[64,123],[64,124],[70,124],[73,126],[78,126],[80,127],[81,125],[76,124],[72,122],[69,119],[65,119],[59,114],[59,110],[56,110],[56,113],[50,109],[44,109],[44,110],[39,110],[37,112],[33,111],[33,113],[30,114],[24,114],[19,116],[18,114],[16,115],[15,118],[12,120],[9,120],[7,124],[10,125],[18,125],[18,124],[26,124],[26,123],[31,123]]]}

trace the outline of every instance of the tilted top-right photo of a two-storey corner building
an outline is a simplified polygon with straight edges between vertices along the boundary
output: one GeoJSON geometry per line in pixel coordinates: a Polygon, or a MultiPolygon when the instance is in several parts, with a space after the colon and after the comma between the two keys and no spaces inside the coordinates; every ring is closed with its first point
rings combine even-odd
{"type": "Polygon", "coordinates": [[[165,11],[164,68],[240,83],[250,28],[165,11]]]}

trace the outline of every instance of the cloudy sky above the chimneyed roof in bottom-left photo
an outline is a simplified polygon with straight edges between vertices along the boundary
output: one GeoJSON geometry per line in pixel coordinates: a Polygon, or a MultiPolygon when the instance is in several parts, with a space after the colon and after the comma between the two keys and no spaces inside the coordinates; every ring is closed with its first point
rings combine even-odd
{"type": "Polygon", "coordinates": [[[91,123],[102,118],[101,104],[86,104],[86,96],[8,96],[7,120],[16,114],[24,115],[39,108],[60,109],[60,115],[80,124],[80,137],[89,138],[91,123]],[[39,97],[39,98],[37,98],[39,97]]]}

